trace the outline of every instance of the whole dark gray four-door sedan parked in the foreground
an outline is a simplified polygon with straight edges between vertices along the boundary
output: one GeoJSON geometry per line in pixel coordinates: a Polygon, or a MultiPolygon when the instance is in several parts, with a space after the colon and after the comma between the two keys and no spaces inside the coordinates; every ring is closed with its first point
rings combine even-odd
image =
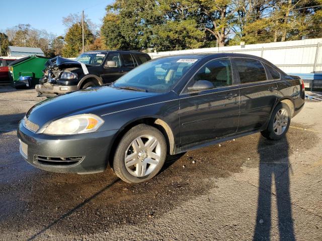
{"type": "Polygon", "coordinates": [[[110,86],[36,104],[18,138],[22,156],[40,169],[86,174],[110,166],[125,182],[139,183],[160,171],[167,154],[257,132],[281,139],[303,105],[303,81],[263,58],[169,56],[110,86]]]}

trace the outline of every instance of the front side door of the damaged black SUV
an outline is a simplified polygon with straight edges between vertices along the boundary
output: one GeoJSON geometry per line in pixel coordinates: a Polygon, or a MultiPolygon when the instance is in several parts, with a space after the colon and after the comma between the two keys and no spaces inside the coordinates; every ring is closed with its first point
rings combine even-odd
{"type": "Polygon", "coordinates": [[[103,82],[105,84],[114,82],[115,80],[120,78],[124,74],[124,71],[122,70],[120,53],[109,52],[103,68],[104,69],[103,69],[103,73],[101,74],[101,77],[103,78],[103,82]],[[116,67],[109,66],[108,61],[115,61],[116,67]]]}

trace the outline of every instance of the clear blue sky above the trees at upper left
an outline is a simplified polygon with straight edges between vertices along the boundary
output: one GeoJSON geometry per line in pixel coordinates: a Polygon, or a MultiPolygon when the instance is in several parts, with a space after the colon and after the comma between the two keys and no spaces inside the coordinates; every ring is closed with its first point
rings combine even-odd
{"type": "Polygon", "coordinates": [[[96,24],[102,23],[105,7],[113,0],[5,0],[1,1],[0,32],[18,24],[30,24],[35,29],[45,29],[49,33],[63,35],[65,26],[62,17],[81,13],[96,24]]]}

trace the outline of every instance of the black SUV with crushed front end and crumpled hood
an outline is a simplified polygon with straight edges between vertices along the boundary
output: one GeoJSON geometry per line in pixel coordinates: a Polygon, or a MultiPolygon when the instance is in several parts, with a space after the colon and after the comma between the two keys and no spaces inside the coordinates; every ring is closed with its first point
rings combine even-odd
{"type": "Polygon", "coordinates": [[[75,60],[57,56],[46,62],[36,91],[38,96],[50,97],[108,84],[150,59],[148,54],[136,51],[91,51],[75,60]]]}

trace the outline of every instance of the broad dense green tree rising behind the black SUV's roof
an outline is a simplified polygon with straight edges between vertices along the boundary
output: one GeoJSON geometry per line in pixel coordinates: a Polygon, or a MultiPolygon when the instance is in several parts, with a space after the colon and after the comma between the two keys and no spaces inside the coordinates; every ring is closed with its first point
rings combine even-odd
{"type": "Polygon", "coordinates": [[[117,0],[107,6],[101,28],[112,49],[182,49],[199,47],[205,34],[189,16],[190,1],[117,0]],[[182,3],[181,3],[182,2],[182,3]]]}

